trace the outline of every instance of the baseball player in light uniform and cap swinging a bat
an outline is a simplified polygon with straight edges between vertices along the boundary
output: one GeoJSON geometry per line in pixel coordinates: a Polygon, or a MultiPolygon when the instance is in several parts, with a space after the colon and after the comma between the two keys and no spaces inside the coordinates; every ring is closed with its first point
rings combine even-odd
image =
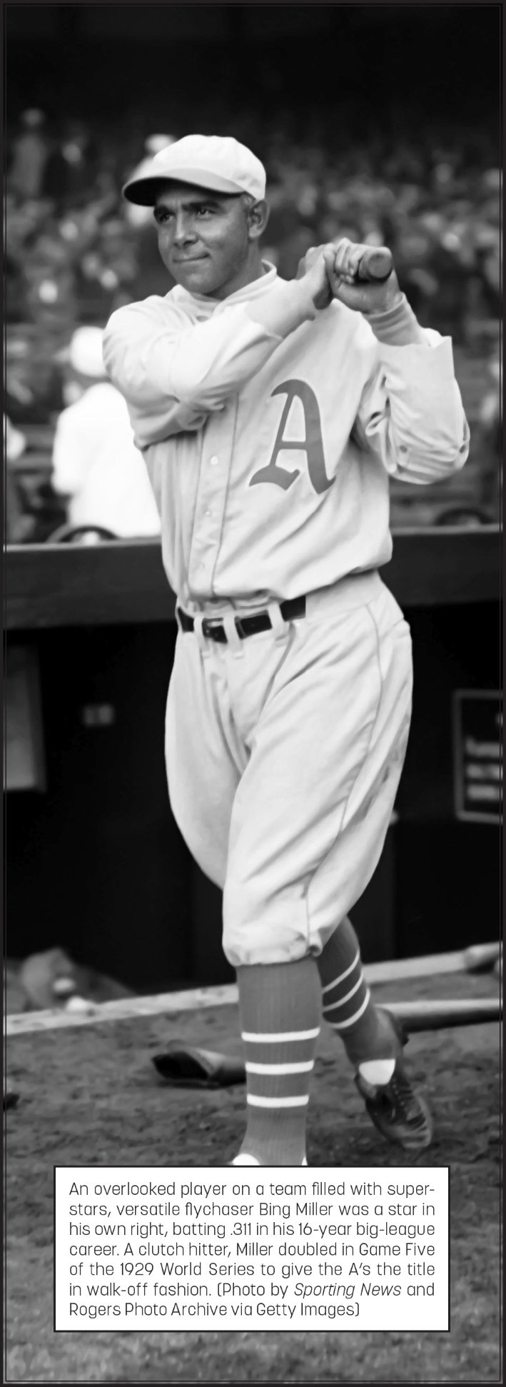
{"type": "Polygon", "coordinates": [[[162,523],[179,635],[166,710],[173,814],[223,888],[247,1129],[233,1164],[305,1164],[320,1018],[366,1108],[431,1140],[402,1035],[365,983],[348,911],[381,854],[412,707],[410,634],[383,584],[388,479],[466,460],[448,338],[419,326],[365,247],[262,262],[265,169],[187,136],[123,189],[154,208],[176,280],[112,313],[104,356],[162,523]]]}

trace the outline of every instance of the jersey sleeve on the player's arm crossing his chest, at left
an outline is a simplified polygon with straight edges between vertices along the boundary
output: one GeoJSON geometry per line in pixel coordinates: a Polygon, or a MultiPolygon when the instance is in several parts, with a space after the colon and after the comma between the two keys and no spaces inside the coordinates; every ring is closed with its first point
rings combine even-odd
{"type": "Polygon", "coordinates": [[[276,284],[247,305],[220,305],[204,323],[189,323],[166,301],[161,309],[148,301],[130,304],[105,327],[104,362],[130,406],[136,436],[141,417],[150,416],[158,437],[169,437],[200,429],[223,409],[283,337],[313,316],[301,283],[276,284]]]}

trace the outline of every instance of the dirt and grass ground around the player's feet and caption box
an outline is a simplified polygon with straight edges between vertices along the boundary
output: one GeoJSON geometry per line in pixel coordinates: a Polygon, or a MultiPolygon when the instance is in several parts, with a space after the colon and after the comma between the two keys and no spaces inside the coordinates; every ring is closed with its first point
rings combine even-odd
{"type": "MultiPolygon", "coordinates": [[[[374,988],[377,1000],[496,996],[494,975],[374,988]]],[[[451,1332],[53,1332],[53,1165],[225,1165],[244,1087],[169,1089],[151,1054],[182,1037],[237,1051],[236,1007],[19,1035],[7,1112],[6,1381],[500,1383],[499,1026],[413,1036],[406,1056],[437,1135],[419,1165],[451,1166],[451,1332]]],[[[412,1165],[363,1110],[344,1051],[320,1039],[309,1165],[412,1165]]]]}

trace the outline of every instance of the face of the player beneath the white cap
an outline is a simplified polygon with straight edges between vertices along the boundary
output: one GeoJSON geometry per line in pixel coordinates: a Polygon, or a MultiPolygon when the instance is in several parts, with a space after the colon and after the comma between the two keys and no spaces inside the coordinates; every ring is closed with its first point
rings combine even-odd
{"type": "Polygon", "coordinates": [[[190,294],[226,298],[247,283],[255,237],[250,236],[248,208],[240,194],[168,183],[157,197],[154,216],[164,265],[190,294]]]}

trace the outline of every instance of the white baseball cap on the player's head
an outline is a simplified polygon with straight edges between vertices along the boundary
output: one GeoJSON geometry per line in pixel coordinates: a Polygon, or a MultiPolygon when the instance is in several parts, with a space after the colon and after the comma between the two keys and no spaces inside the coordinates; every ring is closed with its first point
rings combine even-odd
{"type": "Polygon", "coordinates": [[[154,207],[161,183],[194,183],[213,193],[250,193],[265,197],[265,168],[245,144],[219,135],[186,135],[155,154],[151,168],[123,187],[123,197],[139,207],[154,207]]]}

